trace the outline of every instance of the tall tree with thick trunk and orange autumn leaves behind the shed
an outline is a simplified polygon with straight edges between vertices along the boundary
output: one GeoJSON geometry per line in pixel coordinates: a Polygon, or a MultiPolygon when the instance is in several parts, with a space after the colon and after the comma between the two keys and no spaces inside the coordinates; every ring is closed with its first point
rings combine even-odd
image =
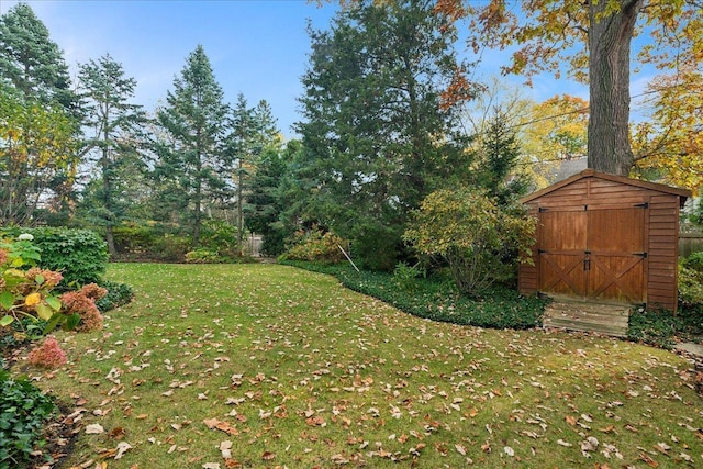
{"type": "Polygon", "coordinates": [[[437,11],[455,21],[469,19],[468,42],[476,52],[513,49],[503,67],[506,74],[521,74],[529,81],[550,71],[588,82],[589,166],[617,175],[628,175],[635,160],[646,156],[634,155],[629,143],[631,55],[676,70],[700,58],[703,48],[701,4],[692,0],[438,0],[437,11]],[[632,40],[638,34],[652,41],[633,54],[632,40]]]}

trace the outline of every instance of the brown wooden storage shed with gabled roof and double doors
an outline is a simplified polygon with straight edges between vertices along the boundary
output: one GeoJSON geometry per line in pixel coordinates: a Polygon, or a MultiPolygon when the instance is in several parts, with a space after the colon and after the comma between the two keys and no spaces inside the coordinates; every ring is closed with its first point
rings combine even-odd
{"type": "Polygon", "coordinates": [[[676,311],[679,210],[690,196],[587,169],[523,198],[538,224],[520,291],[676,311]]]}

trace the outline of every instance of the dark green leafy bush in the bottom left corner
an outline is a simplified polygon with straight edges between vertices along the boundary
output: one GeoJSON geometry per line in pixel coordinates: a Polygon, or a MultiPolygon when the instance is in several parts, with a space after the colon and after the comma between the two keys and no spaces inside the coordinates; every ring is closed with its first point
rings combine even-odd
{"type": "Polygon", "coordinates": [[[0,468],[29,467],[35,447],[45,443],[44,422],[57,410],[27,379],[0,370],[0,468]]]}

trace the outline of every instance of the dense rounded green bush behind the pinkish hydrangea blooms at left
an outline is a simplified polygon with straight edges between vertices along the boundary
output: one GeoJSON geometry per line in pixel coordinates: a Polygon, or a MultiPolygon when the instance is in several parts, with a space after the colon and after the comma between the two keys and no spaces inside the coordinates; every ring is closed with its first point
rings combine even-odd
{"type": "Polygon", "coordinates": [[[99,282],[108,265],[108,247],[96,233],[88,230],[54,227],[3,228],[2,234],[19,236],[29,233],[34,236],[42,260],[40,267],[62,272],[62,289],[70,284],[99,282]]]}

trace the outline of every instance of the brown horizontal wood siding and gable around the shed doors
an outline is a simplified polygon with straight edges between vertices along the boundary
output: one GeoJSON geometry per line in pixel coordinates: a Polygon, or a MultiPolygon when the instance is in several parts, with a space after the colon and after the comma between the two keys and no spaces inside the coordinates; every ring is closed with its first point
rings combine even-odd
{"type": "MultiPolygon", "coordinates": [[[[583,171],[554,187],[553,190],[547,188],[526,198],[525,203],[531,213],[537,215],[539,208],[578,208],[580,205],[606,208],[648,202],[645,214],[647,259],[644,264],[647,306],[676,311],[679,209],[685,200],[687,191],[592,170],[583,171]]],[[[518,288],[523,293],[535,293],[540,286],[539,255],[537,254],[539,239],[539,226],[537,226],[536,245],[532,256],[535,264],[521,265],[518,268],[518,288]]]]}

